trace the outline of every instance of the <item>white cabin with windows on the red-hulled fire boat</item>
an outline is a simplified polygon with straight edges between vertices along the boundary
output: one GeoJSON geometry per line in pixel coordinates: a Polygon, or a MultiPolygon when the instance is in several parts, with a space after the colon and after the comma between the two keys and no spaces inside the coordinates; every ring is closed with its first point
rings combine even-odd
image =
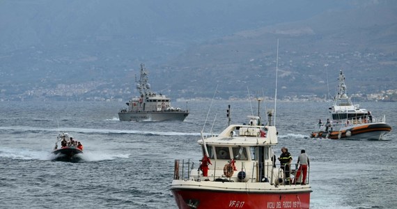
{"type": "MultiPolygon", "coordinates": [[[[276,168],[273,148],[277,144],[277,130],[274,126],[230,125],[216,137],[198,141],[203,155],[208,153],[212,162],[208,176],[230,178],[234,181],[277,183],[283,172],[276,168]],[[233,172],[225,167],[233,164],[233,172]]],[[[194,176],[192,170],[191,175],[194,176]]]]}

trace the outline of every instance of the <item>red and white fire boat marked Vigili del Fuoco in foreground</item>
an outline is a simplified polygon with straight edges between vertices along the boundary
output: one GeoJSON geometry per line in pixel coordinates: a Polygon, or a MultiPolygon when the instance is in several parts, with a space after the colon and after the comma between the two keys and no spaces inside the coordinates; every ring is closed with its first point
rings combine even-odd
{"type": "Polygon", "coordinates": [[[171,191],[178,207],[309,208],[310,171],[306,184],[286,180],[275,162],[278,133],[269,122],[260,125],[258,116],[249,116],[248,125],[229,125],[217,136],[201,134],[198,144],[209,160],[175,161],[171,191]]]}

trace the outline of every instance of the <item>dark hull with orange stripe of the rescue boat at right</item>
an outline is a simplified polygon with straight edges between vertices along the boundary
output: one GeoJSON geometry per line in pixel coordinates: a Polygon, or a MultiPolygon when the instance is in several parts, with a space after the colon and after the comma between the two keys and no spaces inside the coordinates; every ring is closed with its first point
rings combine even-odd
{"type": "Polygon", "coordinates": [[[391,131],[391,126],[386,123],[365,123],[341,127],[338,131],[333,132],[313,132],[313,138],[327,139],[349,139],[349,140],[382,140],[384,134],[391,131]]]}

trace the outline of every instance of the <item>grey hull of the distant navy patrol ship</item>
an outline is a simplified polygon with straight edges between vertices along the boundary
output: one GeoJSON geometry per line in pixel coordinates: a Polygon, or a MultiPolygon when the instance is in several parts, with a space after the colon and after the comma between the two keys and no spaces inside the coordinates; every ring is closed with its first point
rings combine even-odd
{"type": "Polygon", "coordinates": [[[120,121],[184,121],[189,115],[187,111],[126,111],[119,112],[120,121]]]}

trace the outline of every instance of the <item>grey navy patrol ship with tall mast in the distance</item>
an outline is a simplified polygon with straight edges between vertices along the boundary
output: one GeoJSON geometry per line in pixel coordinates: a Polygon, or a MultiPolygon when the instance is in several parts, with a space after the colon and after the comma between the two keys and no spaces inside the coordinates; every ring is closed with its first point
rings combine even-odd
{"type": "Polygon", "coordinates": [[[137,81],[140,97],[131,98],[127,102],[127,109],[118,112],[120,121],[184,121],[189,110],[171,107],[171,99],[161,93],[150,91],[148,71],[141,64],[141,76],[137,81]]]}

